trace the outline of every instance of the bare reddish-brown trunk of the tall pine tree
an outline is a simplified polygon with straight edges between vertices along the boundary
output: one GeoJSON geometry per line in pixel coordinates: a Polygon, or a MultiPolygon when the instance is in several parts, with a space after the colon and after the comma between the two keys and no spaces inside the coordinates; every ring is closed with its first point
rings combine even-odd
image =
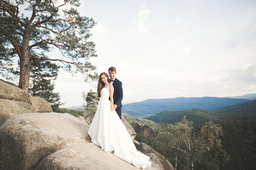
{"type": "Polygon", "coordinates": [[[18,87],[23,89],[28,94],[29,77],[30,77],[30,49],[29,49],[30,35],[25,31],[22,40],[21,56],[20,58],[20,79],[18,87]]]}

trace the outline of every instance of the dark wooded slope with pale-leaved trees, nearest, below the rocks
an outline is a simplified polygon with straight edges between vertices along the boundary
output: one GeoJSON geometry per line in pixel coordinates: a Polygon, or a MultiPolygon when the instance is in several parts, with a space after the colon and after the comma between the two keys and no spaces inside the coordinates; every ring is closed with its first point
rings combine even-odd
{"type": "MultiPolygon", "coordinates": [[[[142,119],[139,121],[143,122],[142,119]]],[[[154,127],[161,127],[156,129],[159,130],[156,138],[147,139],[137,135],[135,140],[153,147],[178,169],[191,169],[190,163],[195,159],[194,169],[256,168],[255,120],[239,120],[228,114],[218,123],[208,121],[196,127],[193,122],[183,118],[174,124],[159,123],[154,127]]]]}

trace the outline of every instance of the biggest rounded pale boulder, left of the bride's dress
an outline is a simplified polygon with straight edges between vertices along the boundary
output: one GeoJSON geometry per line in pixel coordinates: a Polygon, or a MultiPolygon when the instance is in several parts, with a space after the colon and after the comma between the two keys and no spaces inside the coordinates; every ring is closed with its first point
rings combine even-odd
{"type": "Polygon", "coordinates": [[[89,125],[68,113],[23,113],[0,127],[0,169],[34,169],[59,149],[90,141],[89,125]]]}

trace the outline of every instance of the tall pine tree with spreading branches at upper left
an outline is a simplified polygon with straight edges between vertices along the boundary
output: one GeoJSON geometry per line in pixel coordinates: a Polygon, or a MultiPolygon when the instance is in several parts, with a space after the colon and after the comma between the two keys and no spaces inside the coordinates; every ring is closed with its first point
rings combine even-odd
{"type": "Polygon", "coordinates": [[[10,68],[11,58],[18,57],[19,88],[28,93],[31,62],[59,62],[85,81],[97,77],[89,62],[97,56],[95,44],[88,40],[95,21],[80,16],[79,6],[79,0],[0,1],[0,66],[10,68]],[[60,55],[49,55],[51,50],[60,55]]]}

